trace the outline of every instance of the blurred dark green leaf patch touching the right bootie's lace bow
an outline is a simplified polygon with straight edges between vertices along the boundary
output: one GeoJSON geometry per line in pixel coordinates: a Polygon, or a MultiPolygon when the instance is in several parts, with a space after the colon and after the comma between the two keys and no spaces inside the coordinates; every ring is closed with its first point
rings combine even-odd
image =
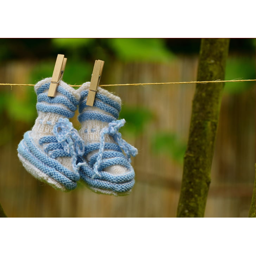
{"type": "Polygon", "coordinates": [[[153,118],[153,113],[145,108],[122,106],[120,118],[124,118],[129,125],[122,127],[122,133],[137,137],[144,132],[146,124],[153,118]]]}

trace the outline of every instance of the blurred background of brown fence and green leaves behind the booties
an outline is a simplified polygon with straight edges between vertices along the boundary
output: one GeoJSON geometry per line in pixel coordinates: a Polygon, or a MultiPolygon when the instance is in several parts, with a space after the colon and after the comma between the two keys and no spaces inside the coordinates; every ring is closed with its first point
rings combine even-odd
{"type": "MultiPolygon", "coordinates": [[[[225,79],[255,79],[255,39],[230,40],[225,79]]],[[[63,81],[101,84],[195,81],[200,39],[0,39],[0,83],[51,77],[57,54],[68,58],[63,81]]],[[[0,203],[8,217],[176,217],[195,84],[105,87],[122,99],[123,138],[138,148],[136,183],[125,197],[84,184],[57,191],[28,174],[17,145],[36,113],[33,87],[0,86],[0,203]]],[[[79,129],[77,115],[72,119],[79,129]]],[[[205,217],[248,217],[255,163],[255,82],[226,83],[205,217]]]]}

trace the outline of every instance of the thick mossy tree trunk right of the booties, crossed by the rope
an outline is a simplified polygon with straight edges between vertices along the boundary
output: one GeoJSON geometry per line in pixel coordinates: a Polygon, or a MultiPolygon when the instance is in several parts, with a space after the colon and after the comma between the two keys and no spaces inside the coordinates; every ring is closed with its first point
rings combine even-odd
{"type": "MultiPolygon", "coordinates": [[[[197,81],[225,79],[228,38],[201,40],[197,81]]],[[[177,217],[204,217],[224,83],[197,84],[177,217]]]]}

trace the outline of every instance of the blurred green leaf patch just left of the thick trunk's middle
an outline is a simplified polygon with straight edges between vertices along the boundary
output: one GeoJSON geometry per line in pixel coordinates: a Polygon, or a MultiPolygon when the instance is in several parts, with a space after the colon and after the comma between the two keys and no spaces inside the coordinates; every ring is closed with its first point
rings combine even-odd
{"type": "Polygon", "coordinates": [[[152,137],[151,146],[155,154],[167,155],[178,163],[183,162],[186,143],[181,141],[176,134],[169,132],[157,133],[152,137]]]}

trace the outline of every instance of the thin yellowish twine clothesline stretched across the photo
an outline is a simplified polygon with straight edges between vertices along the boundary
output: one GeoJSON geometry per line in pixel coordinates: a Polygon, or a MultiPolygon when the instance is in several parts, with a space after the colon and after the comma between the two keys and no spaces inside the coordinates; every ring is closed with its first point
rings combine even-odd
{"type": "MultiPolygon", "coordinates": [[[[246,80],[214,80],[214,81],[190,81],[190,82],[151,82],[151,83],[118,83],[118,84],[102,84],[100,87],[107,86],[151,86],[160,84],[184,84],[184,83],[214,83],[214,82],[248,82],[256,81],[256,79],[246,79],[246,80]]],[[[0,86],[35,86],[35,84],[25,84],[25,83],[0,83],[0,86]]],[[[80,87],[81,85],[70,85],[71,87],[80,87]]]]}

